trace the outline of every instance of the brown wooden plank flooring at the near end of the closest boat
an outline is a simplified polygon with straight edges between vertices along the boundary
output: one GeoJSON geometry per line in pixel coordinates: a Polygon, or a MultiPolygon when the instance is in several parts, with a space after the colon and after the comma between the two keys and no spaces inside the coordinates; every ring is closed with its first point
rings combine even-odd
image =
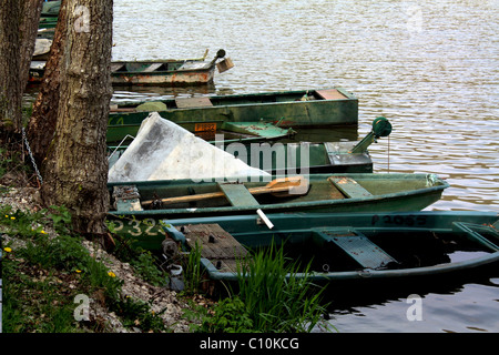
{"type": "Polygon", "coordinates": [[[247,250],[218,224],[189,224],[182,233],[189,246],[194,248],[197,242],[201,256],[221,272],[237,272],[237,264],[246,257],[247,250]]]}

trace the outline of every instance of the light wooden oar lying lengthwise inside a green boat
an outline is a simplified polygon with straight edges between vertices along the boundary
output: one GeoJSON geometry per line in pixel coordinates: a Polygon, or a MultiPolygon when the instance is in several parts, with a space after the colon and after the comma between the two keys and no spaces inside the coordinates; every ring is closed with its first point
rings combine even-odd
{"type": "MultiPolygon", "coordinates": [[[[286,197],[286,196],[297,196],[297,195],[304,195],[308,192],[308,180],[304,179],[303,176],[292,176],[292,178],[279,178],[271,181],[265,186],[258,186],[258,187],[252,187],[247,191],[252,195],[258,195],[263,193],[272,193],[273,195],[277,197],[286,197]]],[[[223,197],[225,194],[220,192],[210,192],[210,193],[202,193],[202,194],[195,194],[195,195],[187,195],[187,196],[177,196],[177,197],[167,197],[167,199],[161,199],[161,200],[150,200],[150,201],[143,201],[142,205],[149,205],[153,202],[161,201],[163,204],[173,204],[173,203],[182,203],[182,202],[193,202],[193,201],[201,201],[201,200],[207,200],[207,199],[215,199],[215,197],[223,197]]]]}

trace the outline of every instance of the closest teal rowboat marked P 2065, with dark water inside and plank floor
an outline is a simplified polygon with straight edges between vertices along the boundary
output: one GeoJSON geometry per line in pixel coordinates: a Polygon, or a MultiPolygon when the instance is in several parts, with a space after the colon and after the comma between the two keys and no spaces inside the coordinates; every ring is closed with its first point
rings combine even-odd
{"type": "MultiPolygon", "coordinates": [[[[499,262],[497,212],[272,214],[181,219],[164,222],[167,237],[149,247],[190,252],[201,246],[201,264],[212,280],[235,281],[252,253],[271,245],[313,281],[375,281],[460,274],[499,262]]],[[[244,276],[247,276],[244,273],[244,276]]]]}

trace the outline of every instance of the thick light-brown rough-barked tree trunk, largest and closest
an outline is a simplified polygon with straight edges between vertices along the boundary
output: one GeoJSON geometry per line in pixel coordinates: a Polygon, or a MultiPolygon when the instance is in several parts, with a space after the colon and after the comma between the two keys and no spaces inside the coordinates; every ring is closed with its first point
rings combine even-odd
{"type": "Polygon", "coordinates": [[[109,209],[105,134],[113,1],[68,0],[65,11],[59,110],[42,199],[45,205],[68,207],[77,231],[102,233],[109,209]]]}

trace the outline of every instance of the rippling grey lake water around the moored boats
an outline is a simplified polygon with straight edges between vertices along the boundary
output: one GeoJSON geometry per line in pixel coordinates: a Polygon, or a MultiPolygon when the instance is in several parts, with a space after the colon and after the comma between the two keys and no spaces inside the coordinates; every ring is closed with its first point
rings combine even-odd
{"type": "MultiPolygon", "coordinates": [[[[114,101],[342,87],[358,135],[378,115],[377,172],[429,172],[451,187],[428,210],[499,212],[498,1],[114,0],[114,60],[227,52],[214,88],[116,91],[114,101]]],[[[497,266],[496,266],[497,268],[497,266]]],[[[339,332],[498,332],[499,273],[363,295],[332,313],[339,332]]]]}

